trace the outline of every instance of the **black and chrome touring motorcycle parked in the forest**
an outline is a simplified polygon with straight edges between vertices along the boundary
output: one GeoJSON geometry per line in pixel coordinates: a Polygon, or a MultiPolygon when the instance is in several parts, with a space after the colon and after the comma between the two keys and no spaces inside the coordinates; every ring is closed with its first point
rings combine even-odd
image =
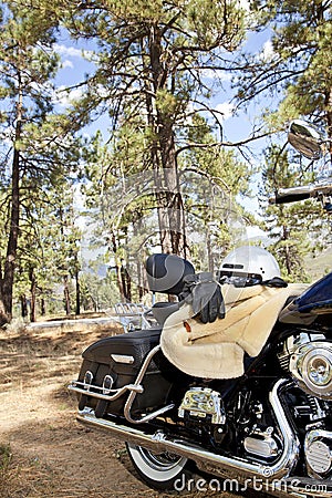
{"type": "MultiPolygon", "coordinates": [[[[292,124],[289,139],[307,157],[321,154],[320,135],[304,122],[292,124]]],[[[331,194],[328,184],[290,188],[272,201],[315,197],[329,210],[331,194]]],[[[152,291],[179,301],[153,307],[158,325],[102,339],[83,352],[79,378],[69,386],[79,397],[77,421],[125,442],[139,477],[158,490],[190,490],[194,463],[211,476],[209,488],[200,480],[196,490],[330,497],[332,273],[289,293],[259,354],[245,352],[242,374],[227,378],[179,369],[160,342],[183,301],[194,307],[195,293],[210,292],[215,280],[193,278],[193,264],[173,255],[151,256],[146,271],[152,291]]],[[[222,294],[222,279],[216,289],[222,294]]],[[[209,312],[201,328],[228,317],[220,300],[209,312]]],[[[190,329],[190,320],[180,326],[190,329]]]]}

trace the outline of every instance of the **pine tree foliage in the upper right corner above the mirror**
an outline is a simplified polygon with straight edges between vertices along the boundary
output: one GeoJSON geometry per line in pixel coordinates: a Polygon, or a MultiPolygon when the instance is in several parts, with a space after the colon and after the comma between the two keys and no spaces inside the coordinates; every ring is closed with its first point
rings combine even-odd
{"type": "Polygon", "coordinates": [[[245,55],[239,102],[266,97],[271,105],[264,117],[272,129],[308,116],[332,137],[331,2],[256,0],[251,9],[259,29],[271,30],[270,53],[245,55]]]}

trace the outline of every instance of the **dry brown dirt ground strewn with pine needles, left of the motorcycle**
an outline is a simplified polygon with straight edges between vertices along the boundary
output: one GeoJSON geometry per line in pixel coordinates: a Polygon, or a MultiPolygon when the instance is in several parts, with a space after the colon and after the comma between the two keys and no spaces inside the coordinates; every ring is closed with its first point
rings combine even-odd
{"type": "Polygon", "coordinates": [[[75,396],[66,386],[76,377],[81,352],[121,331],[76,329],[0,332],[0,497],[170,496],[137,479],[123,443],[76,423],[75,396]]]}

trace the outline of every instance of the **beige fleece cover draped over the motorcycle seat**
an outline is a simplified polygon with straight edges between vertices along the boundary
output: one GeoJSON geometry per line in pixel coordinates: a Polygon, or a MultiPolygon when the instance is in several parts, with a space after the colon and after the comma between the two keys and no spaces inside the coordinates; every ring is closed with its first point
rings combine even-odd
{"type": "Polygon", "coordinates": [[[204,324],[191,318],[189,304],[181,305],[164,324],[162,351],[170,363],[189,375],[239,377],[245,373],[245,352],[249,356],[260,353],[287,299],[299,295],[307,288],[305,284],[287,288],[224,284],[225,319],[204,324]]]}

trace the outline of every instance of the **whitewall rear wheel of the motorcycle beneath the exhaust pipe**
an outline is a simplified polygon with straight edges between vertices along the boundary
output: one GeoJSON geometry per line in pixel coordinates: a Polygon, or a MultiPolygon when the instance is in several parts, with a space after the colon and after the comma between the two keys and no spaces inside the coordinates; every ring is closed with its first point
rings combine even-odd
{"type": "Polygon", "coordinates": [[[168,452],[156,454],[131,443],[126,443],[126,446],[133,465],[144,483],[164,491],[179,490],[186,479],[187,458],[168,452]]]}

